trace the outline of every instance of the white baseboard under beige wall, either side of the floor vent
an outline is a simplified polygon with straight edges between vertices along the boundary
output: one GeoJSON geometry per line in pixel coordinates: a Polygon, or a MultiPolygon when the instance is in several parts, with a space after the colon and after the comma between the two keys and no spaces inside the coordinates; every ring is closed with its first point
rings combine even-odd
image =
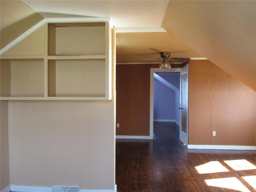
{"type": "MultiPolygon", "coordinates": [[[[52,187],[40,187],[40,186],[21,186],[21,185],[10,185],[9,188],[5,188],[1,192],[52,192],[52,187]]],[[[115,185],[114,190],[87,190],[80,189],[80,192],[116,192],[117,186],[115,185]]]]}

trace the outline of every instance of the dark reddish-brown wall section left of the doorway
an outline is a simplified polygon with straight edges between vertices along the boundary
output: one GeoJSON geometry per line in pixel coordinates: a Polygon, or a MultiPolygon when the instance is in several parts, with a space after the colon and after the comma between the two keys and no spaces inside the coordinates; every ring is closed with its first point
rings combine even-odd
{"type": "Polygon", "coordinates": [[[116,135],[149,136],[150,68],[158,64],[116,65],[116,135]]]}

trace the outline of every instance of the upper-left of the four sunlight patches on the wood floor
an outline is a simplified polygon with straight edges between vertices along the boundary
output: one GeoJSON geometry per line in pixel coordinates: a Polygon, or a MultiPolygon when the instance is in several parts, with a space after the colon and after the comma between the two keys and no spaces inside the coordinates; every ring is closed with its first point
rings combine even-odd
{"type": "Polygon", "coordinates": [[[196,166],[195,168],[199,174],[229,172],[229,170],[218,161],[210,161],[196,166]]]}

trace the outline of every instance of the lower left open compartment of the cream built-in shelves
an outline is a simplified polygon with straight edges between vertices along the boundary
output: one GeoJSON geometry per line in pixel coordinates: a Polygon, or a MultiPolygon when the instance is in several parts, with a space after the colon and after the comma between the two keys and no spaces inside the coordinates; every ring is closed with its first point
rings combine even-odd
{"type": "Polygon", "coordinates": [[[44,61],[1,60],[1,96],[44,96],[44,61]]]}

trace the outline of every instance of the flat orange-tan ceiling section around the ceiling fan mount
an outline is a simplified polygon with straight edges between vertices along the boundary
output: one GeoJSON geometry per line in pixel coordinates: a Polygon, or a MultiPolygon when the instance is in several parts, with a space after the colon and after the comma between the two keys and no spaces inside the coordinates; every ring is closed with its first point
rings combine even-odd
{"type": "MultiPolygon", "coordinates": [[[[202,58],[168,32],[117,33],[116,41],[117,63],[162,62],[161,51],[169,51],[171,57],[176,58],[202,58]]],[[[169,62],[179,63],[182,60],[169,62]]]]}

